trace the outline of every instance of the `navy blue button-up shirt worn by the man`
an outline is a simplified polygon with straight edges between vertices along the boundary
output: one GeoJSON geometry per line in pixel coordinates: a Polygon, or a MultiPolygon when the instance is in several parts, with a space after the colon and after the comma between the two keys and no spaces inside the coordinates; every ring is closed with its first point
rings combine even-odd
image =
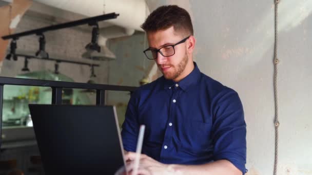
{"type": "Polygon", "coordinates": [[[124,149],[135,151],[144,124],[142,153],[166,164],[228,160],[243,173],[246,123],[238,94],[194,70],[180,82],[164,77],[131,94],[122,126],[124,149]]]}

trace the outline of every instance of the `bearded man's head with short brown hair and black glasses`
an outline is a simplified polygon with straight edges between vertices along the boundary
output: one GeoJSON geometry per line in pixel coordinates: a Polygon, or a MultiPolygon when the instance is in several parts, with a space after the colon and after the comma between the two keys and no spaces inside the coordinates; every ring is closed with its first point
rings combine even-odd
{"type": "Polygon", "coordinates": [[[145,53],[149,59],[155,59],[166,79],[180,81],[193,70],[195,39],[191,18],[185,9],[161,6],[141,27],[147,33],[149,44],[145,53]]]}

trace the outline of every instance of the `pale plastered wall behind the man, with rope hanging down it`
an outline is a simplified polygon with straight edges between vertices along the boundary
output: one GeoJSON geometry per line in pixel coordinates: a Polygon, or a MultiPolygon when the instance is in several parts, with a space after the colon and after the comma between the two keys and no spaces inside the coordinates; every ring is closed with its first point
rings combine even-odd
{"type": "MultiPolygon", "coordinates": [[[[193,19],[200,70],[236,90],[247,123],[248,175],[274,168],[274,1],[147,1],[177,4],[193,19]]],[[[312,1],[279,5],[278,174],[312,174],[312,1]]]]}

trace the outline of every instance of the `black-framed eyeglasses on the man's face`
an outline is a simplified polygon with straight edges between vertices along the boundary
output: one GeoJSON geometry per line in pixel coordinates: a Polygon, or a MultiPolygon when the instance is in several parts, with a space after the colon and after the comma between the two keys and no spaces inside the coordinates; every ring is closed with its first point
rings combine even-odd
{"type": "Polygon", "coordinates": [[[156,59],[157,58],[157,53],[159,52],[160,54],[162,54],[164,57],[169,57],[175,54],[175,50],[174,50],[174,46],[179,45],[180,43],[185,42],[188,38],[190,37],[190,35],[184,39],[182,39],[181,41],[175,43],[174,45],[167,45],[164,47],[161,47],[160,49],[146,49],[144,52],[144,54],[146,55],[146,57],[148,59],[156,59]]]}

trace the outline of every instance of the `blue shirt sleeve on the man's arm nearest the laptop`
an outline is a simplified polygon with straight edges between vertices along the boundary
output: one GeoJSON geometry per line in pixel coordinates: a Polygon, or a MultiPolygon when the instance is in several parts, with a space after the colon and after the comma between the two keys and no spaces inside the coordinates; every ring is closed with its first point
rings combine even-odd
{"type": "Polygon", "coordinates": [[[139,121],[138,121],[138,108],[136,100],[136,92],[131,94],[128,102],[127,111],[125,115],[125,121],[122,125],[122,141],[126,151],[135,151],[136,142],[139,135],[139,121]]]}

